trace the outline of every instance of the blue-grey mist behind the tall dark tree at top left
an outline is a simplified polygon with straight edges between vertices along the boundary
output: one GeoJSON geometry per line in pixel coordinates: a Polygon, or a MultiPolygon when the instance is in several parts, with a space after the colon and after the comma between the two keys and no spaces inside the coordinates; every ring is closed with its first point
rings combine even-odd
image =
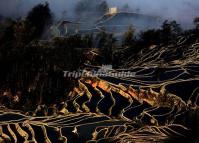
{"type": "Polygon", "coordinates": [[[5,17],[25,17],[37,4],[48,2],[56,18],[72,15],[78,0],[1,0],[0,14],[5,17]]]}

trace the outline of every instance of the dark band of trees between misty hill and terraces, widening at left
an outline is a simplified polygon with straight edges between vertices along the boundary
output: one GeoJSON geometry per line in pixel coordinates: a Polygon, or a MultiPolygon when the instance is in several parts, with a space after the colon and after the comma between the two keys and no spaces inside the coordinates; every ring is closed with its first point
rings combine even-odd
{"type": "MultiPolygon", "coordinates": [[[[105,2],[99,4],[100,11],[107,10],[105,2]]],[[[84,7],[87,10],[88,6],[84,7]]],[[[76,34],[46,43],[36,41],[51,20],[48,4],[39,4],[29,12],[26,20],[8,20],[5,27],[0,25],[0,65],[3,67],[0,71],[0,88],[12,89],[13,95],[16,91],[22,91],[25,102],[32,106],[63,100],[65,89],[71,86],[71,79],[64,79],[62,71],[79,69],[87,48],[98,48],[101,53],[99,57],[102,58],[102,63],[100,61],[98,65],[113,64],[118,67],[129,57],[138,60],[138,53],[148,52],[151,45],[175,44],[181,35],[194,35],[194,38],[187,38],[187,41],[191,39],[190,43],[199,37],[197,29],[183,32],[175,21],[165,21],[161,29],[142,31],[139,39],[135,38],[135,30],[129,26],[121,45],[104,28],[97,35],[76,34]],[[121,48],[117,49],[117,46],[121,48]]],[[[198,21],[196,19],[195,24],[198,21]]]]}

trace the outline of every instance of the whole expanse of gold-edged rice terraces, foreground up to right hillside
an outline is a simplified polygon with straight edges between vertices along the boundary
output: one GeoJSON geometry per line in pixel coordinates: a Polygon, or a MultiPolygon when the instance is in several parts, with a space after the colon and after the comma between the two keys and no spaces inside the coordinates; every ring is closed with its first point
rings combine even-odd
{"type": "Polygon", "coordinates": [[[199,50],[197,43],[186,47],[186,59],[167,65],[169,48],[129,59],[123,67],[135,77],[82,77],[59,109],[40,105],[27,114],[1,107],[0,142],[198,142],[199,50]]]}

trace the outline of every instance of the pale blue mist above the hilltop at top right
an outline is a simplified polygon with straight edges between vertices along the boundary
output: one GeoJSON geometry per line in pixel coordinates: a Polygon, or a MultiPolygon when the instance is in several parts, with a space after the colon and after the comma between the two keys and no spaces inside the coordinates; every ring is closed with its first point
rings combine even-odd
{"type": "Polygon", "coordinates": [[[163,19],[176,20],[186,26],[199,16],[197,0],[107,0],[110,6],[128,4],[140,13],[159,16],[163,19]]]}

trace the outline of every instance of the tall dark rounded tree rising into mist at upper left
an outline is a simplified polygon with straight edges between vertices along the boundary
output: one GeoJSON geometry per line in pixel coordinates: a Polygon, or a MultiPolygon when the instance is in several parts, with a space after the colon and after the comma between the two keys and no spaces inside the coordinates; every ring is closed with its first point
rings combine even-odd
{"type": "Polygon", "coordinates": [[[46,26],[52,23],[52,13],[49,4],[38,4],[28,13],[26,20],[35,27],[33,38],[40,38],[46,26]]]}

